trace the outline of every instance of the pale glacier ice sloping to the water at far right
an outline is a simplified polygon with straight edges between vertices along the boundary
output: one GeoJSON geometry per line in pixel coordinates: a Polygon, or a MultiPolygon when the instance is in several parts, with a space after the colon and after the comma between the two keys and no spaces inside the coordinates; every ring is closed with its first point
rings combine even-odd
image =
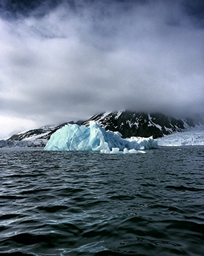
{"type": "Polygon", "coordinates": [[[204,126],[189,128],[185,132],[174,132],[157,141],[161,146],[204,145],[204,126]]]}

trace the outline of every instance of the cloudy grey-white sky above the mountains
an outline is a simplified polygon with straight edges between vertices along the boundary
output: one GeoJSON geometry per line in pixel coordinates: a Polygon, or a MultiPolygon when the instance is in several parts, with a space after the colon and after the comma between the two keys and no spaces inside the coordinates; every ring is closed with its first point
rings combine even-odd
{"type": "Polygon", "coordinates": [[[203,107],[204,1],[0,0],[0,139],[105,111],[203,107]]]}

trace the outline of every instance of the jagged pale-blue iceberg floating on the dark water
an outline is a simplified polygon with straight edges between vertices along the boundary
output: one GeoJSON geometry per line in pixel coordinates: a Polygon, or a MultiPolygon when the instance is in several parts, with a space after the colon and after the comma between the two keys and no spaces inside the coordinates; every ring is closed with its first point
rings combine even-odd
{"type": "Polygon", "coordinates": [[[105,131],[94,121],[89,126],[68,124],[56,130],[44,147],[46,151],[94,151],[105,154],[137,154],[156,149],[158,143],[152,137],[122,139],[120,132],[105,131]]]}

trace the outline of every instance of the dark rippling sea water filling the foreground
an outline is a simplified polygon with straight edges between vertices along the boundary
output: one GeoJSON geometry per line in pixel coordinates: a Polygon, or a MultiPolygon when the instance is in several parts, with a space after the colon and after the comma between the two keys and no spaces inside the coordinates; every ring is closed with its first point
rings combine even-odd
{"type": "Polygon", "coordinates": [[[0,255],[204,255],[204,147],[0,151],[0,255]]]}

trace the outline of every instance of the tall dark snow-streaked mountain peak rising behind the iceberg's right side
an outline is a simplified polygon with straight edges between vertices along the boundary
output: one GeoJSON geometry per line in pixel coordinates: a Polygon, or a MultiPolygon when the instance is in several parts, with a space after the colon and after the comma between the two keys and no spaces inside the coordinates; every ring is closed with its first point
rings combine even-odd
{"type": "Polygon", "coordinates": [[[194,127],[196,124],[192,119],[176,119],[160,113],[143,113],[134,111],[117,111],[112,113],[101,113],[84,122],[96,121],[105,130],[118,131],[123,138],[128,137],[150,137],[154,139],[163,137],[164,134],[181,132],[185,128],[194,127]]]}

